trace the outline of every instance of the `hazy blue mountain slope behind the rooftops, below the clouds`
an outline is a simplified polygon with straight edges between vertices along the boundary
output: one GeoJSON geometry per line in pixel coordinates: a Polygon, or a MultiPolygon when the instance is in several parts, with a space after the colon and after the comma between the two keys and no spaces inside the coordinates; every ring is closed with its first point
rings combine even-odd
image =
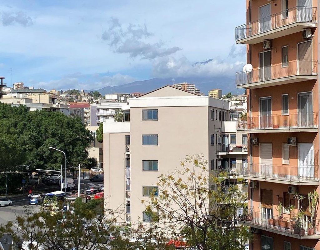
{"type": "MultiPolygon", "coordinates": [[[[243,89],[236,89],[235,80],[228,77],[176,77],[174,78],[174,83],[193,83],[196,85],[201,92],[205,95],[208,94],[208,91],[211,89],[222,89],[222,93],[226,94],[231,92],[233,94],[242,94],[244,93],[243,89]]],[[[152,78],[144,81],[135,81],[128,84],[117,85],[114,87],[106,86],[101,89],[89,89],[85,92],[90,91],[99,91],[102,95],[108,93],[133,93],[141,92],[147,93],[149,91],[160,88],[164,85],[172,85],[172,78],[152,78]]]]}

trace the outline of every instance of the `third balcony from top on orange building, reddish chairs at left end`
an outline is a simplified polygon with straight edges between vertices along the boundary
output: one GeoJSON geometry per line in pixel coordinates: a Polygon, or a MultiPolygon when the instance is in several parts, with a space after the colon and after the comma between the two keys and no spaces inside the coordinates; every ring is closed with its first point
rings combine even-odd
{"type": "Polygon", "coordinates": [[[238,122],[243,133],[318,132],[318,113],[251,116],[238,122]]]}

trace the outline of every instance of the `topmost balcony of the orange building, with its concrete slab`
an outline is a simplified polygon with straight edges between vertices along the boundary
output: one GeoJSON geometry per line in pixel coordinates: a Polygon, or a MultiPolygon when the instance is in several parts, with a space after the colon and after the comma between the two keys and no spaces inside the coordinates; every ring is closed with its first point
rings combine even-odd
{"type": "Polygon", "coordinates": [[[265,40],[290,35],[306,28],[316,27],[316,23],[316,7],[296,6],[286,11],[236,27],[236,43],[261,43],[265,40]]]}

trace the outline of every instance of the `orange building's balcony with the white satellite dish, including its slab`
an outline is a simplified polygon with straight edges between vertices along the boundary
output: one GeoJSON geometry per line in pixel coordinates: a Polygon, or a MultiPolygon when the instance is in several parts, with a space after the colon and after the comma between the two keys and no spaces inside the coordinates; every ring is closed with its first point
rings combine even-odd
{"type": "Polygon", "coordinates": [[[293,60],[263,68],[254,68],[250,73],[236,73],[237,88],[264,88],[282,84],[316,80],[318,61],[293,60]]]}

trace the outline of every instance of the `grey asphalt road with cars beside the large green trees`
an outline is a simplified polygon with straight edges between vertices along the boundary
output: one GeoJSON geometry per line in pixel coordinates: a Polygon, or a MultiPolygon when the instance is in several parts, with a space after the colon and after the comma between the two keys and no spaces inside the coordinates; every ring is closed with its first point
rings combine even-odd
{"type": "MultiPolygon", "coordinates": [[[[74,179],[76,187],[78,188],[78,180],[74,179]]],[[[80,180],[80,189],[85,190],[87,187],[100,187],[102,182],[91,182],[90,180],[80,180]]],[[[45,193],[57,191],[57,186],[50,186],[51,190],[45,192],[36,192],[35,194],[44,195],[45,193]]],[[[31,209],[32,211],[38,211],[40,206],[29,205],[28,194],[24,195],[14,195],[8,196],[8,199],[12,201],[12,206],[2,206],[0,207],[0,224],[6,223],[8,221],[14,221],[17,215],[25,214],[26,209],[31,209]]]]}

